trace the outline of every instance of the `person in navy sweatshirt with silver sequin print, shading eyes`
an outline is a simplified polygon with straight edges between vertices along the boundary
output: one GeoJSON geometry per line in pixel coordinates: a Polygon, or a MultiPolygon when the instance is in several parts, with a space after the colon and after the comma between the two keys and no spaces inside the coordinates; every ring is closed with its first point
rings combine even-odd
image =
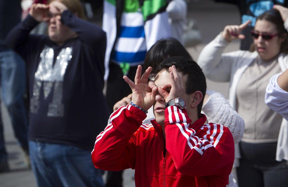
{"type": "Polygon", "coordinates": [[[104,186],[91,147],[109,116],[102,92],[106,36],[83,18],[78,0],[33,4],[6,39],[27,65],[29,151],[39,187],[104,186]],[[48,36],[29,35],[40,22],[48,23],[48,36]]]}

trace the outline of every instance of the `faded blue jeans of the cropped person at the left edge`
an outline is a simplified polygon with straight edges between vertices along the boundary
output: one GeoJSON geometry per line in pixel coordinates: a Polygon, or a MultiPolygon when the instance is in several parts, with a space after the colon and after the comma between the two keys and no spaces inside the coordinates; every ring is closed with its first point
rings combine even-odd
{"type": "MultiPolygon", "coordinates": [[[[25,62],[18,54],[12,50],[0,52],[2,100],[11,117],[14,135],[20,146],[28,151],[28,119],[23,100],[26,82],[25,71],[25,62]]],[[[7,159],[2,122],[0,123],[0,159],[7,159]]]]}

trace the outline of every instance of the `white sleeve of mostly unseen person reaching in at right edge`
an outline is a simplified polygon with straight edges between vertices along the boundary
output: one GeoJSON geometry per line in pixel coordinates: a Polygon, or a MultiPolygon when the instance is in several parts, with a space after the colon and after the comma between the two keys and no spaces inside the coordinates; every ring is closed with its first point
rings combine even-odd
{"type": "Polygon", "coordinates": [[[265,103],[275,112],[288,120],[288,92],[283,90],[277,82],[282,73],[274,75],[266,88],[265,103]]]}

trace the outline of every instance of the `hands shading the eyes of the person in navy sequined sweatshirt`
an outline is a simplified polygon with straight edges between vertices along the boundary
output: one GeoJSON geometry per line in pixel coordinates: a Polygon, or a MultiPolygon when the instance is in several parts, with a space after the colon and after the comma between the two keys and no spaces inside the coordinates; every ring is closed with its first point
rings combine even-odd
{"type": "MultiPolygon", "coordinates": [[[[37,3],[37,4],[32,4],[29,14],[32,16],[37,22],[46,22],[51,19],[52,14],[56,13],[57,18],[61,19],[61,14],[63,11],[67,10],[68,8],[61,2],[59,1],[52,1],[49,5],[37,3]]],[[[56,16],[56,15],[55,15],[56,16]]]]}

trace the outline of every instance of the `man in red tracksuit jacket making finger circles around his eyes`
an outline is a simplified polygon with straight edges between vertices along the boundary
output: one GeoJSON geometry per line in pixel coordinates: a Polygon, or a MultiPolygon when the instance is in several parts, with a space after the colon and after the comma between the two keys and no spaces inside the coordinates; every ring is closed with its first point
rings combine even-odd
{"type": "Polygon", "coordinates": [[[132,89],[132,102],[110,116],[92,151],[96,168],[135,169],[135,186],[215,186],[228,184],[234,142],[227,127],[205,124],[201,114],[206,79],[196,62],[170,57],[158,66],[155,81],[149,67],[132,89]],[[155,120],[142,124],[153,105],[155,120]]]}

